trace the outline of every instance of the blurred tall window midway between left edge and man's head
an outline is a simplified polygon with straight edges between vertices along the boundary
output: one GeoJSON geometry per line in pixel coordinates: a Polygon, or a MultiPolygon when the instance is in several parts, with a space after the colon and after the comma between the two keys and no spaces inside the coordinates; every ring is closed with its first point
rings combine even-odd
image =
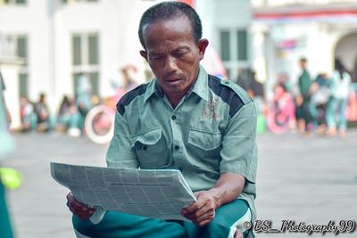
{"type": "Polygon", "coordinates": [[[74,93],[77,95],[79,78],[86,75],[92,92],[99,95],[99,38],[96,33],[72,35],[72,67],[74,93]]]}

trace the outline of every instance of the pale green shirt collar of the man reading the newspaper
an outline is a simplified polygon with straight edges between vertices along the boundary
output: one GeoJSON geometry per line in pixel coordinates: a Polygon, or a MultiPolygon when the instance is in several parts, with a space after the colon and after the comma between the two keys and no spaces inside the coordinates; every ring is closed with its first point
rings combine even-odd
{"type": "MultiPolygon", "coordinates": [[[[206,70],[200,65],[198,72],[198,77],[195,80],[195,85],[187,92],[187,94],[195,93],[204,100],[208,100],[208,74],[206,70]]],[[[147,86],[145,93],[144,102],[146,102],[152,95],[156,94],[158,97],[163,97],[162,87],[157,83],[157,79],[154,78],[153,81],[147,86]]]]}

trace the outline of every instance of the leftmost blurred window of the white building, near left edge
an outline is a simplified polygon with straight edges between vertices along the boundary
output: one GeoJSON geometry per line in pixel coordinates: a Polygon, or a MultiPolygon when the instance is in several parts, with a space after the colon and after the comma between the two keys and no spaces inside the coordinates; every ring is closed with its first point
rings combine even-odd
{"type": "Polygon", "coordinates": [[[7,40],[9,45],[12,45],[17,57],[21,58],[23,64],[19,70],[19,91],[20,96],[29,96],[29,50],[28,50],[28,37],[8,36],[7,40]]]}

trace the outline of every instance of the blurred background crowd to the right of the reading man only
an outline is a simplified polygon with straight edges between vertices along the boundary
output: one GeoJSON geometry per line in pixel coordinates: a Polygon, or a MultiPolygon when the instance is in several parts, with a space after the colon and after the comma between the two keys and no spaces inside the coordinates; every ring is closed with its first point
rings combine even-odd
{"type": "MultiPolygon", "coordinates": [[[[266,100],[263,85],[257,81],[253,70],[240,72],[237,84],[254,98],[258,123],[263,117],[261,123],[266,123],[270,130],[277,133],[296,130],[310,136],[315,130],[318,135],[344,137],[349,97],[354,96],[354,101],[350,101],[351,107],[357,103],[351,74],[338,59],[332,75],[320,73],[314,79],[308,71],[307,59],[301,58],[299,64],[301,74],[296,85],[286,75],[280,75],[270,101],[266,100]]],[[[357,113],[357,107],[351,111],[357,113]]]]}

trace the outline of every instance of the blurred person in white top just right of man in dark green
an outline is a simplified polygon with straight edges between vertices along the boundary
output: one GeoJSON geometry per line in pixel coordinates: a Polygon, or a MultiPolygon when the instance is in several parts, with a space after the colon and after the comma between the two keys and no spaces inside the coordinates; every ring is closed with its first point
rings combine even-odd
{"type": "Polygon", "coordinates": [[[311,103],[314,111],[313,118],[317,123],[317,133],[322,135],[327,128],[326,112],[328,109],[329,79],[326,73],[320,73],[311,85],[311,103]]]}

